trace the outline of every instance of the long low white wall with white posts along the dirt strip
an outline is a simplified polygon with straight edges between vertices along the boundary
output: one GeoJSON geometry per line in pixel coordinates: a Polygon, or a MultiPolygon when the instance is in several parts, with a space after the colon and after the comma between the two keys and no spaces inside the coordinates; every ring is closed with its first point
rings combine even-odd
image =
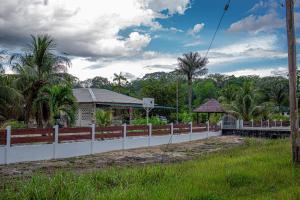
{"type": "MultiPolygon", "coordinates": [[[[59,129],[54,127],[54,142],[51,144],[22,144],[11,145],[11,129],[6,131],[6,145],[0,146],[0,164],[17,163],[24,161],[50,160],[69,158],[114,150],[150,147],[168,143],[188,142],[221,135],[220,131],[193,132],[174,134],[171,124],[170,134],[152,135],[152,126],[149,125],[149,134],[146,136],[127,136],[126,125],[123,125],[123,137],[106,140],[95,139],[95,125],[91,127],[91,140],[59,142],[59,129]]],[[[195,129],[197,130],[197,129],[195,129]]]]}

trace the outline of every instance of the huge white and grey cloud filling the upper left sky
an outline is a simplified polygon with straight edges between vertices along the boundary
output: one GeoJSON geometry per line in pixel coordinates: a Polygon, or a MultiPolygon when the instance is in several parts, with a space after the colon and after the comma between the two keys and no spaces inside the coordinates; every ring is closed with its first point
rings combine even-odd
{"type": "Polygon", "coordinates": [[[60,51],[81,57],[122,57],[137,54],[151,38],[129,27],[162,28],[160,11],[183,14],[189,0],[0,0],[0,42],[19,47],[30,34],[50,34],[60,51]]]}

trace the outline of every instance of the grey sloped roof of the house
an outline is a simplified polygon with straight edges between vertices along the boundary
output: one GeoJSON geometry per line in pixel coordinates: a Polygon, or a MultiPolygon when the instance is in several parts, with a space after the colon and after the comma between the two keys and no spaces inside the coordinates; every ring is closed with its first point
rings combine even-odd
{"type": "Polygon", "coordinates": [[[143,101],[106,89],[76,88],[73,95],[79,103],[143,104],[143,101]]]}

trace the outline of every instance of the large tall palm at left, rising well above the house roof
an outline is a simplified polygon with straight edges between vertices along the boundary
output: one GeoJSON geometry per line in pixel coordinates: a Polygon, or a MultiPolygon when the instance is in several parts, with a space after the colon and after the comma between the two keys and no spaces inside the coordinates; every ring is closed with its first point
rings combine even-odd
{"type": "Polygon", "coordinates": [[[33,113],[32,103],[38,97],[39,90],[50,84],[61,72],[70,66],[70,60],[55,55],[55,44],[48,35],[31,36],[32,40],[24,54],[14,54],[10,58],[12,69],[18,74],[17,87],[25,99],[25,122],[29,123],[32,115],[36,115],[38,126],[42,125],[42,105],[37,105],[33,113]]]}

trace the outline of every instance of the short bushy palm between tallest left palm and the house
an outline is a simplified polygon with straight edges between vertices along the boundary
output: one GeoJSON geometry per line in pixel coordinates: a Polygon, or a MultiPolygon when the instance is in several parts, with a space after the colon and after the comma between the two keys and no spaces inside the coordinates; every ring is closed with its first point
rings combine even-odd
{"type": "Polygon", "coordinates": [[[45,113],[43,117],[48,121],[47,124],[56,124],[62,115],[67,117],[69,124],[75,122],[77,104],[69,86],[45,86],[40,90],[34,103],[43,106],[45,113]]]}

